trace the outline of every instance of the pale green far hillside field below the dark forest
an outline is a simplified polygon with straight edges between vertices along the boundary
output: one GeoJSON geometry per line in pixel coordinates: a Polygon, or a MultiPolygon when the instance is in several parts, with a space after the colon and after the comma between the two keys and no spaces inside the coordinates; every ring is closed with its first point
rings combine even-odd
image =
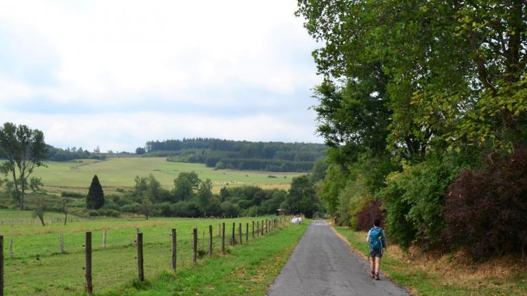
{"type": "Polygon", "coordinates": [[[218,192],[222,186],[255,185],[262,188],[288,189],[292,177],[300,173],[273,173],[264,171],[215,170],[204,164],[167,162],[165,158],[108,158],[99,160],[77,160],[73,162],[45,162],[47,167],[35,170],[41,177],[45,189],[50,192],[73,191],[86,193],[93,175],[99,177],[105,191],[117,188],[131,189],[134,177],[148,176],[152,173],[161,185],[174,188],[174,178],[180,172],[196,171],[200,179],[211,179],[213,190],[218,192]],[[274,177],[268,177],[274,175],[274,177]]]}

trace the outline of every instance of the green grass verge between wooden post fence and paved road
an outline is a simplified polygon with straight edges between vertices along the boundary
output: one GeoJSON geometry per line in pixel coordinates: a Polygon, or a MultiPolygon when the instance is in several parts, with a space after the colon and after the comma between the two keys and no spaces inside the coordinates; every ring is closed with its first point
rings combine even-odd
{"type": "Polygon", "coordinates": [[[163,271],[149,282],[132,282],[97,295],[265,295],[309,223],[229,248],[226,256],[200,260],[196,267],[176,275],[163,271]]]}

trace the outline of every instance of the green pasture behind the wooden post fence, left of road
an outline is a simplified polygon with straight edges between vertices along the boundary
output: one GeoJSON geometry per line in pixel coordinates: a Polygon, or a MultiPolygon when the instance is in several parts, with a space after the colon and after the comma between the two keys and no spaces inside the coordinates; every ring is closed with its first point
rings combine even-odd
{"type": "MultiPolygon", "coordinates": [[[[172,229],[177,231],[176,262],[178,270],[181,270],[193,264],[194,228],[197,228],[198,258],[209,254],[209,225],[213,230],[211,250],[215,255],[222,253],[222,223],[225,223],[225,245],[229,252],[233,237],[235,244],[240,239],[243,243],[247,240],[250,243],[250,240],[285,226],[286,221],[277,217],[159,218],[141,221],[98,219],[80,220],[69,225],[51,224],[45,227],[47,233],[38,232],[32,225],[0,225],[4,242],[5,295],[82,293],[87,231],[92,236],[93,289],[105,291],[130,284],[137,278],[137,233],[143,236],[144,272],[148,279],[172,269],[172,229]],[[262,231],[262,224],[265,232],[262,231]]],[[[268,239],[272,239],[271,236],[268,239]]]]}

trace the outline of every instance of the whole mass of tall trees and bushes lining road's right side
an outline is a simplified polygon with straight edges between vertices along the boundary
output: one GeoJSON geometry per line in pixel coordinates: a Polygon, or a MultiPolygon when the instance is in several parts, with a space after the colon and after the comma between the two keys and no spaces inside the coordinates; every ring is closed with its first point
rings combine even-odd
{"type": "Polygon", "coordinates": [[[404,249],[524,251],[526,12],[525,1],[298,1],[322,44],[314,110],[330,149],[316,188],[338,222],[364,229],[382,215],[404,249]]]}

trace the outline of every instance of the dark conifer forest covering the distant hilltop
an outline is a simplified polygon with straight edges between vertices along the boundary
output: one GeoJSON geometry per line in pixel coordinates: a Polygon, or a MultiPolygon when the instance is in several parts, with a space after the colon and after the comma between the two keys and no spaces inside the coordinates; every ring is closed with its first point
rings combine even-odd
{"type": "Polygon", "coordinates": [[[149,141],[138,153],[167,156],[176,162],[198,162],[218,169],[258,171],[311,171],[325,157],[323,144],[248,142],[217,138],[149,141]]]}

